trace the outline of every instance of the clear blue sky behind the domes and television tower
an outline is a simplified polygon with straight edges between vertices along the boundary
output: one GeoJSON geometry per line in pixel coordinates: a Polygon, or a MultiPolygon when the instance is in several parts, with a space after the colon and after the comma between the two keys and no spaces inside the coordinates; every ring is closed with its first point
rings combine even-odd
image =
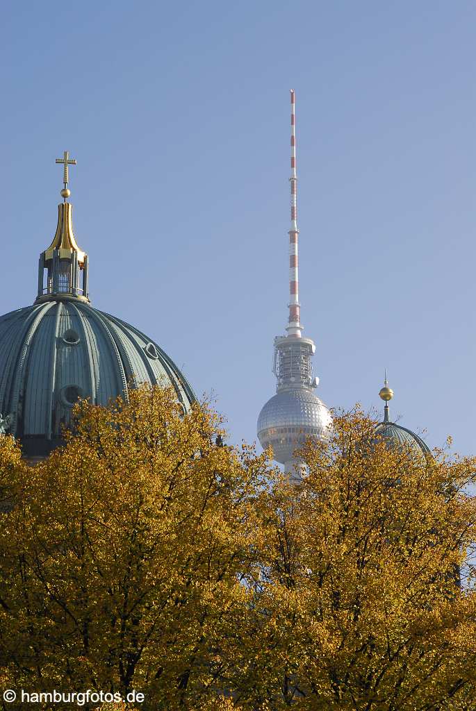
{"type": "Polygon", "coordinates": [[[317,394],[472,454],[476,5],[6,3],[0,312],[31,304],[63,150],[92,304],[255,439],[287,318],[289,90],[317,394]]]}

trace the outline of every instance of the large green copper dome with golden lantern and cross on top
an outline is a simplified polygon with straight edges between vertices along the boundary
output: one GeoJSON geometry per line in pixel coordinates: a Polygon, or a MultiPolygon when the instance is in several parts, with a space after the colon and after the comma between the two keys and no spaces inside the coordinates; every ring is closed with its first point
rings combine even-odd
{"type": "Polygon", "coordinates": [[[0,419],[31,457],[60,444],[81,398],[107,405],[146,383],[174,387],[184,410],[195,400],[156,341],[90,305],[88,255],[75,242],[67,184],[55,237],[40,255],[35,303],[0,316],[0,419]]]}

